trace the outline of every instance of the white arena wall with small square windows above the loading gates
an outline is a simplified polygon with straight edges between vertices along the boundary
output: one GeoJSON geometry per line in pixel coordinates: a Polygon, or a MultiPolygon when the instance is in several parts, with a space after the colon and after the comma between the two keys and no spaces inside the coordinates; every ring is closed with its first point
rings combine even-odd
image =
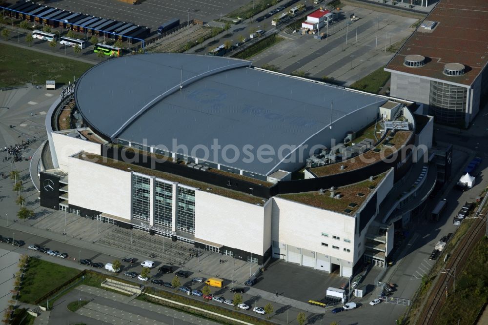
{"type": "MultiPolygon", "coordinates": [[[[273,241],[353,261],[355,219],[337,212],[273,197],[273,241]],[[322,236],[322,233],[328,237],[322,236]],[[332,239],[338,236],[340,239],[332,239]],[[348,239],[351,243],[344,242],[348,239]],[[328,247],[321,243],[328,244],[328,247]],[[332,245],[339,246],[333,249],[332,245]],[[343,248],[351,250],[344,252],[343,248]]],[[[310,255],[310,254],[307,254],[310,255]]],[[[302,262],[300,258],[299,263],[302,262]]]]}

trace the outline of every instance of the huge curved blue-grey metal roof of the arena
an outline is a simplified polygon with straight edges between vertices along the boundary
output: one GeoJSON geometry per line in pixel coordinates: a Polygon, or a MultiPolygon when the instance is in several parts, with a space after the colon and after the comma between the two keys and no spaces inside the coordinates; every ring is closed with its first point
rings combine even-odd
{"type": "Polygon", "coordinates": [[[253,69],[250,63],[173,53],[112,59],[81,76],[75,100],[84,119],[112,140],[182,153],[172,150],[177,143],[188,148],[189,156],[261,175],[283,168],[283,159],[246,161],[245,145],[254,151],[266,145],[275,152],[282,145],[301,146],[328,131],[332,102],[334,123],[386,102],[385,97],[253,69]],[[217,155],[211,149],[215,139],[221,146],[217,155]],[[203,149],[192,154],[202,145],[210,157],[203,149]],[[233,150],[223,156],[226,145],[241,150],[237,161],[222,158],[235,156],[233,150]]]}

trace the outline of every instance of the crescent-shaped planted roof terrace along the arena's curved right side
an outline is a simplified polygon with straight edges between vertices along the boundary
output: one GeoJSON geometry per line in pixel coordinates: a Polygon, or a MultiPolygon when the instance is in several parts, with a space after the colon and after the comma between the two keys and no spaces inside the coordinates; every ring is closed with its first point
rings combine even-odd
{"type": "Polygon", "coordinates": [[[365,167],[372,163],[376,163],[380,159],[386,158],[392,153],[399,150],[407,142],[410,134],[412,134],[412,131],[396,131],[392,139],[388,141],[391,146],[386,146],[386,139],[383,139],[383,141],[378,143],[378,145],[376,145],[374,149],[368,150],[362,155],[350,158],[344,162],[331,163],[325,166],[310,168],[310,171],[314,173],[317,177],[322,177],[327,175],[345,173],[351,170],[365,167]],[[341,170],[341,165],[344,165],[346,168],[341,170]]]}

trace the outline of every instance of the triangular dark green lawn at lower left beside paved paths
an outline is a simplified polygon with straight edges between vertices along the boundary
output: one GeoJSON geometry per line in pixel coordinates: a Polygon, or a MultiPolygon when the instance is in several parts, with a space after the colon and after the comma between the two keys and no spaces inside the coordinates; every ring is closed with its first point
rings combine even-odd
{"type": "Polygon", "coordinates": [[[24,275],[19,300],[34,304],[37,299],[79,273],[80,270],[75,268],[32,258],[24,275]]]}

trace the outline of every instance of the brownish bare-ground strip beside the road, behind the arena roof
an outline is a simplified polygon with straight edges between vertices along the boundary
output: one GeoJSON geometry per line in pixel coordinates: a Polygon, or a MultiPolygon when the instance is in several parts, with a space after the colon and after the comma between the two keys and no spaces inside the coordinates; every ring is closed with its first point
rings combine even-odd
{"type": "Polygon", "coordinates": [[[178,52],[188,41],[190,44],[195,45],[200,38],[206,39],[212,33],[212,29],[204,27],[199,24],[190,25],[184,27],[178,31],[175,31],[171,35],[163,37],[151,44],[148,44],[147,51],[149,52],[178,52]]]}

